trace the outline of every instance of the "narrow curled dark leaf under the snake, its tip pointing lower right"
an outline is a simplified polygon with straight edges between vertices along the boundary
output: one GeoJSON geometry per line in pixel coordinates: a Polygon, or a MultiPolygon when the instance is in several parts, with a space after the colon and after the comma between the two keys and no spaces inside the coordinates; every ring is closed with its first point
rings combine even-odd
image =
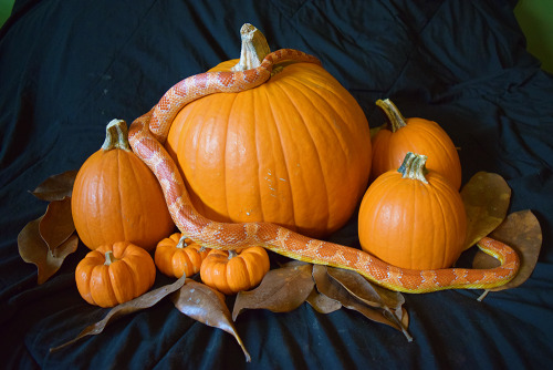
{"type": "MultiPolygon", "coordinates": [[[[313,266],[313,278],[315,279],[316,288],[321,294],[340,301],[345,308],[361,312],[373,321],[386,323],[397,330],[400,330],[408,341],[413,340],[413,337],[407,331],[401,319],[398,319],[396,315],[390,311],[386,312],[383,307],[378,307],[379,304],[373,302],[372,305],[367,305],[365,300],[356,298],[346,288],[344,288],[341,282],[331,277],[327,269],[328,268],[326,266],[313,266]]],[[[363,296],[367,298],[371,294],[363,296]]],[[[401,316],[404,316],[404,314],[401,314],[401,316]]]]}

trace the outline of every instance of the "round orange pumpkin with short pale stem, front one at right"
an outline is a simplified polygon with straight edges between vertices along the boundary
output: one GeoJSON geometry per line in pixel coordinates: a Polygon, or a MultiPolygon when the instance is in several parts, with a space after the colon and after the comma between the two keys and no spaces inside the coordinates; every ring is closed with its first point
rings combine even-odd
{"type": "Polygon", "coordinates": [[[425,175],[425,161],[408,164],[407,177],[405,162],[399,171],[380,175],[359,207],[362,248],[401,268],[447,268],[463,250],[467,216],[461,196],[437,172],[429,169],[425,175]],[[420,163],[422,168],[414,176],[420,163]]]}

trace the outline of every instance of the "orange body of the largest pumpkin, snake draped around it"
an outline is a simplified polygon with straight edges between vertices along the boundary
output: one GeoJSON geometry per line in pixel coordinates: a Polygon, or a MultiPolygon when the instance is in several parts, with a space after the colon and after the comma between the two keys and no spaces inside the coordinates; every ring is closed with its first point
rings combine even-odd
{"type": "MultiPolygon", "coordinates": [[[[249,55],[244,49],[242,54],[249,55]]],[[[229,71],[237,62],[211,71],[229,71]]],[[[371,171],[364,112],[311,63],[281,65],[255,89],[188,104],[173,122],[166,147],[205,216],[265,220],[315,237],[347,222],[371,171]]]]}

